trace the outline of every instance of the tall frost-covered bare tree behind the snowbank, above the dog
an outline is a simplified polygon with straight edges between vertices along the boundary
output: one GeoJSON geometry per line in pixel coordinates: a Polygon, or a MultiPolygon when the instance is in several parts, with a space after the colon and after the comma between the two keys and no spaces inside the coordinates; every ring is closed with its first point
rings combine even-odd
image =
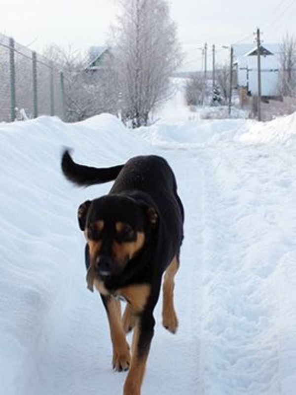
{"type": "Polygon", "coordinates": [[[119,0],[113,53],[122,119],[132,127],[168,93],[169,77],[180,65],[176,27],[165,0],[119,0]]]}

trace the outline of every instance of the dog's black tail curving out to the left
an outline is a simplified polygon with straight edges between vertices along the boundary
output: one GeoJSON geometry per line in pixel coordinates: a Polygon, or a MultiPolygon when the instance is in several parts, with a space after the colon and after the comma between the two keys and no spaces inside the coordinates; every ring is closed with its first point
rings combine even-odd
{"type": "Polygon", "coordinates": [[[101,184],[115,180],[124,165],[113,166],[109,168],[98,169],[79,165],[71,158],[69,151],[66,149],[62,156],[62,171],[65,177],[80,186],[89,186],[101,184]]]}

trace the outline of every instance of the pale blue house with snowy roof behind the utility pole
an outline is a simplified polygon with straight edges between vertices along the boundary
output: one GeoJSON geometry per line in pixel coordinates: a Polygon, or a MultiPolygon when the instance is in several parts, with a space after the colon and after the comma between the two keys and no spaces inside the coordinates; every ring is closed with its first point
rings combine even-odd
{"type": "MultiPolygon", "coordinates": [[[[237,85],[240,95],[258,95],[258,49],[250,48],[245,53],[240,53],[246,45],[234,46],[236,60],[234,66],[237,73],[237,85]]],[[[279,96],[279,45],[260,45],[260,77],[261,96],[271,98],[279,96]]]]}

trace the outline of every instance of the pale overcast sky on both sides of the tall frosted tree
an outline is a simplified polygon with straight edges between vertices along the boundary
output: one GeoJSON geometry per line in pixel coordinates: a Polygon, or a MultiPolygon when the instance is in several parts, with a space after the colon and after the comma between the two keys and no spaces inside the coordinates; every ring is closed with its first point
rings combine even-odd
{"type": "MultiPolygon", "coordinates": [[[[262,40],[281,42],[286,33],[296,35],[295,0],[169,0],[178,37],[190,56],[186,68],[201,68],[201,47],[208,54],[216,47],[222,61],[227,46],[254,42],[257,27],[262,40]]],[[[114,0],[7,0],[0,11],[0,33],[41,52],[55,43],[85,51],[108,39],[116,15],[114,0]]],[[[210,67],[210,60],[209,60],[210,67]]]]}

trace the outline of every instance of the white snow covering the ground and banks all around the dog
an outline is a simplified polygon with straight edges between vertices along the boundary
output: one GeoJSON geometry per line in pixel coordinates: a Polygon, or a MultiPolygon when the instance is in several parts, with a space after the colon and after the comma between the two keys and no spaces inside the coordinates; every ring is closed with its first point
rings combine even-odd
{"type": "MultiPolygon", "coordinates": [[[[176,335],[160,303],[142,393],[292,395],[296,386],[296,114],[200,119],[182,89],[135,131],[102,114],[0,124],[0,395],[121,394],[100,298],[86,289],[65,146],[93,166],[164,156],[185,206],[176,335]]],[[[130,337],[129,337],[130,340],[130,337]]]]}

